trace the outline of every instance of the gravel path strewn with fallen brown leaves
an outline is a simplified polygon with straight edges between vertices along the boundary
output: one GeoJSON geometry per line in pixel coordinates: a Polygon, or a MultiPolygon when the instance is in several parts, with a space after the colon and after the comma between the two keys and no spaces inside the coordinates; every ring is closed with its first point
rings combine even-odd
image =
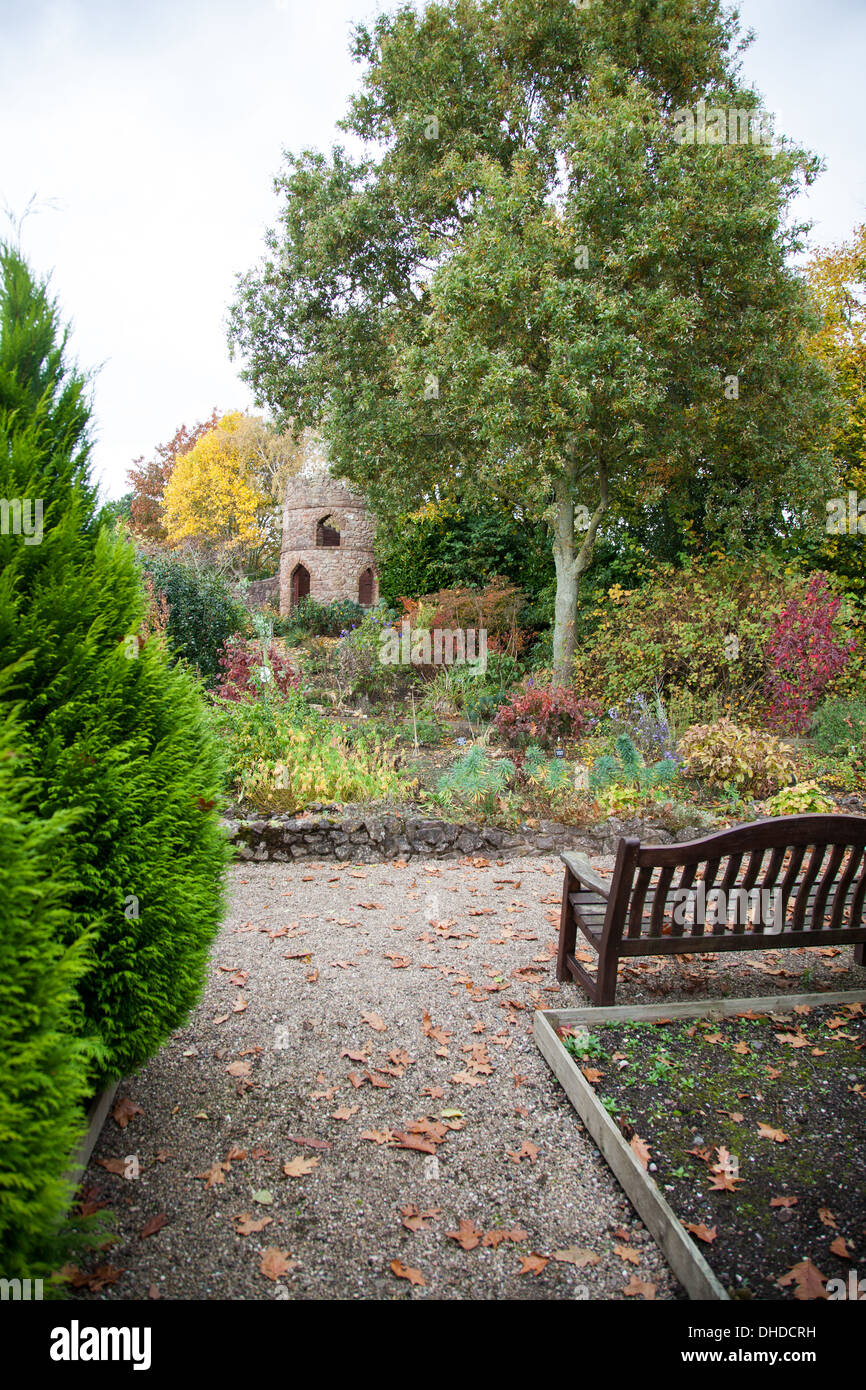
{"type": "MultiPolygon", "coordinates": [[[[553,974],[560,873],[235,867],[203,998],[83,1179],[120,1240],[76,1297],[683,1297],[532,1042],[534,1008],[587,1002],[553,974]]],[[[617,1002],[865,976],[849,948],[651,959],[617,1002]]]]}

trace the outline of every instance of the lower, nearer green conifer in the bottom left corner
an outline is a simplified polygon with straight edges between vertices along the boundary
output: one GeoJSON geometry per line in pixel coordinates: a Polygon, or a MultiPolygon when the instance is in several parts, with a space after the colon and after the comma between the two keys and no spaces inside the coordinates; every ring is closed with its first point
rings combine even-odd
{"type": "Polygon", "coordinates": [[[72,884],[68,813],[43,819],[21,730],[0,724],[0,1250],[7,1279],[47,1277],[71,1197],[63,1180],[85,1127],[90,1048],[76,1037],[89,941],[64,947],[72,884]]]}

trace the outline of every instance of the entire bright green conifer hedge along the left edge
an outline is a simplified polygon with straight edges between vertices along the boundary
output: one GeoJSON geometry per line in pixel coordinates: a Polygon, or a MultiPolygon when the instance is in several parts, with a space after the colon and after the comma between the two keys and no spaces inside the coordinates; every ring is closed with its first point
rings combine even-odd
{"type": "Polygon", "coordinates": [[[228,860],[217,738],[192,677],[139,637],[142,575],[99,524],[89,428],[57,306],[0,246],[6,1277],[47,1248],[86,1095],[195,1002],[228,860]]]}

